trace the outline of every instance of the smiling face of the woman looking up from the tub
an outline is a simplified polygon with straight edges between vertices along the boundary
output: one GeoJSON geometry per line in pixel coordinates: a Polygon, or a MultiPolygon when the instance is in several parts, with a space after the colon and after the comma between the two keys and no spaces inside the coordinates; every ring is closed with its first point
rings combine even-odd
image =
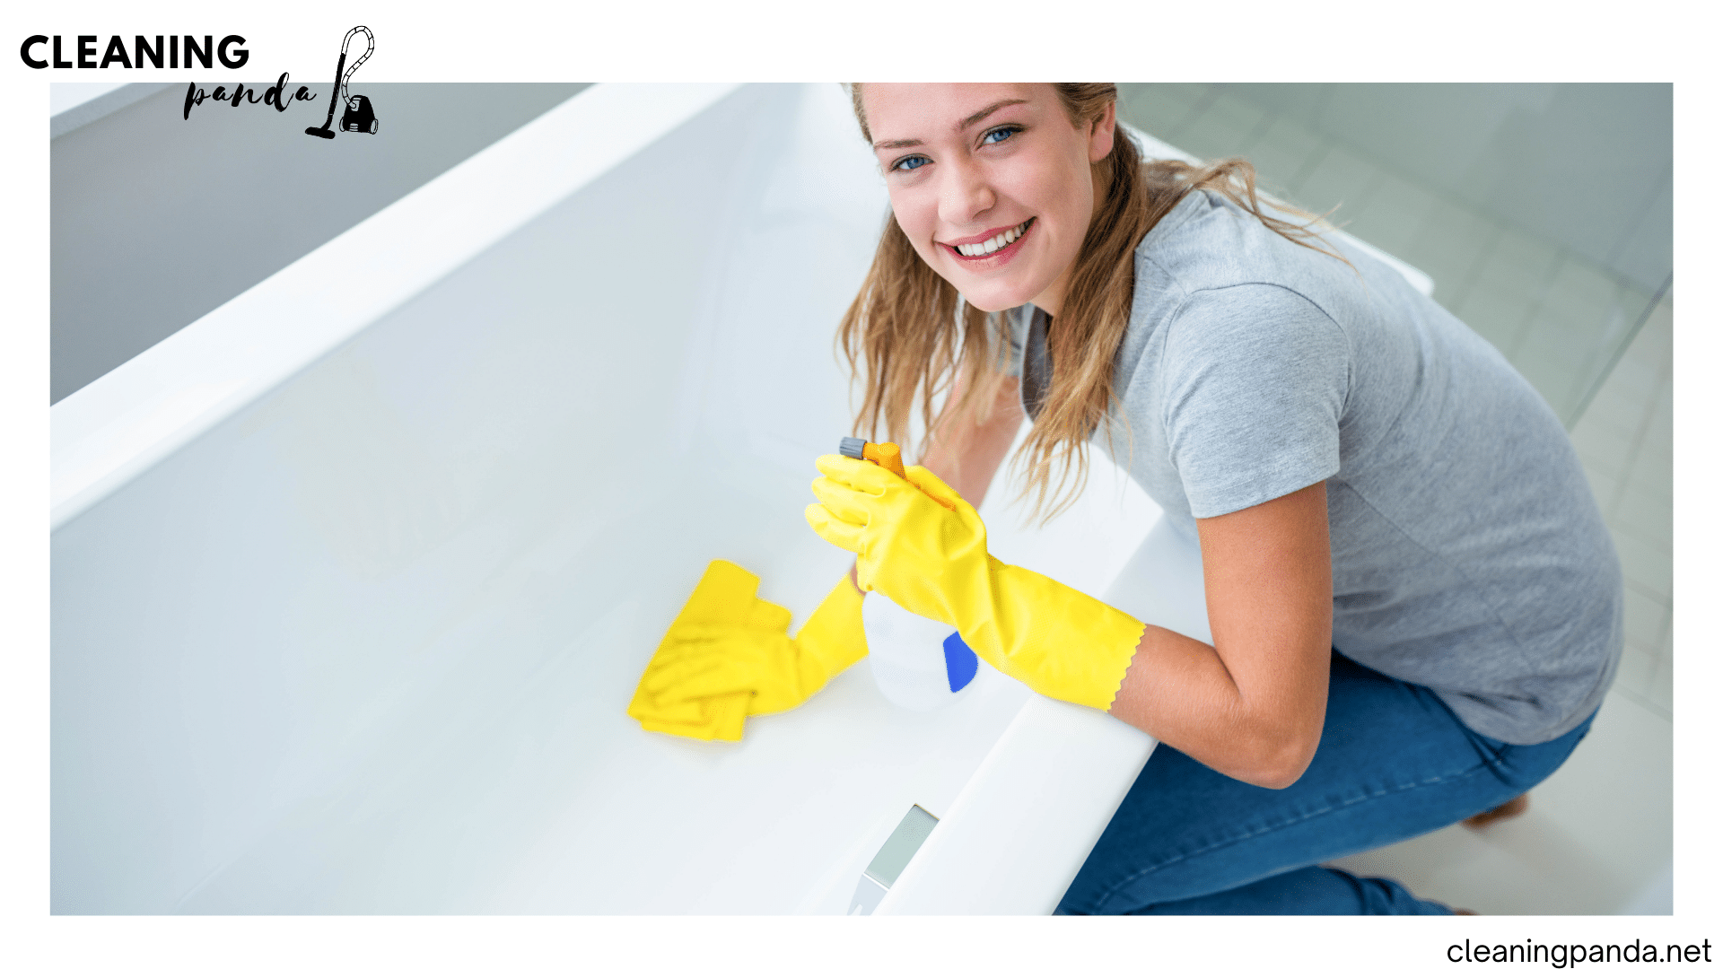
{"type": "Polygon", "coordinates": [[[1053,84],[863,84],[874,155],[915,252],[982,310],[1058,314],[1113,150],[1053,84]]]}

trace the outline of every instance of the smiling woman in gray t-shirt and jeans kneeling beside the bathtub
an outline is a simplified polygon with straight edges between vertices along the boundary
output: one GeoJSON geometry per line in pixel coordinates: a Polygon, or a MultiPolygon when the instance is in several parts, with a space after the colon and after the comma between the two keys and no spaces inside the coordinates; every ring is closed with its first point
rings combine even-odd
{"type": "Polygon", "coordinates": [[[1247,166],[1144,166],[1111,84],[853,98],[893,209],[841,331],[858,428],[955,390],[910,483],[820,459],[808,521],[860,590],[1161,741],[1060,910],[1449,914],[1318,866],[1513,802],[1590,726],[1621,576],[1554,414],[1247,166]],[[1194,531],[1213,647],[987,555],[1025,410],[1037,507],[1092,438],[1194,531]]]}

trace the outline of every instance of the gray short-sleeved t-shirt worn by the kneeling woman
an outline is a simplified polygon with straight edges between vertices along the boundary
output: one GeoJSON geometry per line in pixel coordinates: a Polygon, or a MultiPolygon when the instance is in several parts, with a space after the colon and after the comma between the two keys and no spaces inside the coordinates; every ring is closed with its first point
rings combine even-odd
{"type": "MultiPolygon", "coordinates": [[[[1335,245],[1356,272],[1220,195],[1180,200],[1137,247],[1117,460],[1192,536],[1327,481],[1334,648],[1485,736],[1554,740],[1621,655],[1621,569],[1578,457],[1494,347],[1335,245]]],[[[1030,416],[1046,319],[1011,314],[1030,416]]]]}

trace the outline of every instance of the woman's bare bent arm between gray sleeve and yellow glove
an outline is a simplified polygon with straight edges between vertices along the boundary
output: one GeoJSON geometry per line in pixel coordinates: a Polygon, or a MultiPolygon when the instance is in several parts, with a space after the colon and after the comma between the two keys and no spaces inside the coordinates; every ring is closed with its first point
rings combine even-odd
{"type": "Polygon", "coordinates": [[[1328,700],[1327,488],[1196,528],[1215,648],[1149,626],[1108,712],[1228,778],[1284,788],[1316,753],[1328,700]]]}

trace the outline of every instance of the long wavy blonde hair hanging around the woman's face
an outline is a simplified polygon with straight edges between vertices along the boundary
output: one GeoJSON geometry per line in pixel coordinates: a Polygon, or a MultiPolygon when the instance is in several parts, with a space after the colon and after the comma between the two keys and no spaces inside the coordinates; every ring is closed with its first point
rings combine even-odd
{"type": "MultiPolygon", "coordinates": [[[[1101,121],[1106,107],[1118,100],[1117,84],[1053,88],[1072,126],[1101,121]]],[[[849,84],[849,98],[862,136],[872,143],[862,84],[849,84]]],[[[1263,212],[1256,169],[1244,159],[1204,166],[1142,162],[1135,143],[1118,129],[1113,150],[1096,167],[1106,186],[1104,197],[1077,252],[1065,305],[1048,328],[1051,379],[1041,412],[1013,462],[1027,464],[1022,497],[1034,495],[1032,516],[1041,521],[1058,516],[1082,493],[1089,476],[1084,441],[1106,426],[1108,447],[1113,445],[1106,416],[1117,402],[1113,364],[1135,295],[1134,253],[1142,236],[1180,198],[1197,188],[1218,191],[1297,245],[1340,259],[1313,245],[1318,240],[1311,229],[1315,216],[1278,202],[1266,203],[1304,221],[1291,222],[1263,212]]],[[[906,445],[917,400],[922,426],[934,434],[934,398],[949,391],[955,378],[961,378],[956,419],[982,417],[977,405],[991,403],[998,395],[1010,333],[1005,314],[982,312],[961,302],[956,288],[922,260],[898,228],[896,216],[891,216],[862,291],[837,328],[837,345],[849,362],[851,378],[865,388],[851,433],[875,436],[884,421],[887,440],[906,445]]],[[[905,450],[925,453],[927,443],[922,441],[915,452],[910,447],[905,450]]]]}

